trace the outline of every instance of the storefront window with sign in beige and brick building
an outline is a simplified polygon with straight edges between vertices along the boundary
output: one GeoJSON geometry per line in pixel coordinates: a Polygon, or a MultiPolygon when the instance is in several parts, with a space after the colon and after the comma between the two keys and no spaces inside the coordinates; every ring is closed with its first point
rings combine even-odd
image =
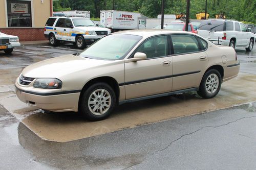
{"type": "Polygon", "coordinates": [[[8,27],[32,27],[31,1],[7,0],[8,27]]]}

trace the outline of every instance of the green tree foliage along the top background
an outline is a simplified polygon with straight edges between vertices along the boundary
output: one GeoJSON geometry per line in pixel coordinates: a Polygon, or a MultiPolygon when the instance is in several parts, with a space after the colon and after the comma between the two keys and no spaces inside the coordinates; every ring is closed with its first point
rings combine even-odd
{"type": "MultiPolygon", "coordinates": [[[[53,2],[54,11],[91,11],[91,17],[100,17],[100,10],[138,11],[148,17],[161,14],[162,0],[59,0],[53,2]]],[[[256,23],[255,0],[208,0],[207,12],[210,18],[224,12],[227,18],[256,23]]],[[[190,18],[204,12],[205,0],[190,0],[190,18]]],[[[186,0],[165,0],[165,14],[186,13],[186,0]]]]}

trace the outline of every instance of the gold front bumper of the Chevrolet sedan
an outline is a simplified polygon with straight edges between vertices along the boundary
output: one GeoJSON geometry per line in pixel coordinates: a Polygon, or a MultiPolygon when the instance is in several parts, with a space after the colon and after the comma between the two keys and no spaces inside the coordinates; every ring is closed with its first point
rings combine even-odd
{"type": "Polygon", "coordinates": [[[80,92],[65,94],[37,93],[31,90],[33,87],[23,87],[17,82],[15,87],[18,99],[31,106],[54,112],[78,111],[80,92]]]}

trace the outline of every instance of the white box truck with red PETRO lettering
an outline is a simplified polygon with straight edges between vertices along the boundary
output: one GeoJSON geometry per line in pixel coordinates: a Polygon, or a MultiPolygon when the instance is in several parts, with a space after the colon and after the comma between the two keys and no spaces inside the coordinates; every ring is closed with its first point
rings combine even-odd
{"type": "Polygon", "coordinates": [[[100,24],[112,29],[112,32],[146,28],[140,13],[127,11],[100,11],[100,24]]]}

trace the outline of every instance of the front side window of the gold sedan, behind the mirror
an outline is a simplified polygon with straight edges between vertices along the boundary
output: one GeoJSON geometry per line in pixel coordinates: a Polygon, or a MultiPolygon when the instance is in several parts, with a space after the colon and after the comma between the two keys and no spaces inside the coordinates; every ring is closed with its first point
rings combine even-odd
{"type": "Polygon", "coordinates": [[[158,36],[146,40],[137,48],[136,52],[145,53],[147,58],[167,56],[167,36],[158,36]]]}

